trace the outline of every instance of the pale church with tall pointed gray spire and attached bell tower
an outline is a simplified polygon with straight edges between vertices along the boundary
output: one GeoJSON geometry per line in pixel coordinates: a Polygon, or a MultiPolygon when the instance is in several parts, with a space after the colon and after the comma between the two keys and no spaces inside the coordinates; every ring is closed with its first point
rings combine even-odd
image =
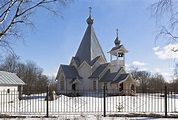
{"type": "Polygon", "coordinates": [[[109,50],[110,61],[107,62],[99,40],[93,28],[93,19],[87,19],[87,29],[74,57],[69,65],[60,65],[56,80],[57,94],[77,90],[97,90],[103,86],[117,91],[118,95],[134,95],[138,84],[125,70],[127,49],[117,36],[114,47],[109,50]]]}

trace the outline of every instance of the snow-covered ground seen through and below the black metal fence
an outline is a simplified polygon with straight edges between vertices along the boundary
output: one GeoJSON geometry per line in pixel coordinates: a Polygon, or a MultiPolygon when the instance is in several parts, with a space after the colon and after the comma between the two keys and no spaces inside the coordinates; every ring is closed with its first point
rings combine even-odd
{"type": "MultiPolygon", "coordinates": [[[[0,113],[15,116],[45,116],[47,111],[46,94],[24,96],[18,100],[17,95],[0,96],[0,113]]],[[[178,113],[178,95],[168,95],[168,115],[178,113]]],[[[148,118],[103,117],[104,99],[102,96],[67,97],[59,95],[56,100],[48,102],[51,120],[129,120],[148,118]]],[[[164,115],[165,100],[160,94],[137,94],[137,96],[109,96],[106,97],[106,114],[152,114],[164,115]]],[[[13,118],[15,119],[15,118],[13,118]]],[[[40,118],[33,118],[40,119],[40,118]]],[[[43,118],[47,119],[47,118],[43,118]]],[[[151,119],[151,118],[150,118],[151,119]]],[[[154,118],[152,118],[154,119],[154,118]]],[[[165,118],[164,118],[165,119],[165,118]]]]}

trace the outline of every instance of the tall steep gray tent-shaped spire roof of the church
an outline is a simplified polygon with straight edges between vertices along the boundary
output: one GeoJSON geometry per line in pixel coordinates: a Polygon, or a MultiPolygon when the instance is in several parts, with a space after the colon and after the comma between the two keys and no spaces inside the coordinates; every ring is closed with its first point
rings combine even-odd
{"type": "MultiPolygon", "coordinates": [[[[87,19],[87,22],[90,19],[91,18],[89,17],[87,19]]],[[[80,64],[83,61],[86,61],[89,65],[91,65],[92,60],[98,56],[103,56],[103,58],[106,60],[98,38],[96,37],[96,34],[94,32],[94,28],[92,27],[92,24],[93,22],[88,22],[88,27],[75,55],[75,57],[79,58],[80,64]]]]}

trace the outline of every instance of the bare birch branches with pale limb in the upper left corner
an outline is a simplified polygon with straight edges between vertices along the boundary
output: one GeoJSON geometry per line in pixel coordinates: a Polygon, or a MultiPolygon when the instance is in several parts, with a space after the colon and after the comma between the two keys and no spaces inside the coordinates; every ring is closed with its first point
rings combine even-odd
{"type": "Polygon", "coordinates": [[[31,16],[42,8],[55,16],[71,0],[1,0],[0,1],[0,47],[10,48],[15,38],[22,37],[22,28],[33,27],[31,16]]]}

